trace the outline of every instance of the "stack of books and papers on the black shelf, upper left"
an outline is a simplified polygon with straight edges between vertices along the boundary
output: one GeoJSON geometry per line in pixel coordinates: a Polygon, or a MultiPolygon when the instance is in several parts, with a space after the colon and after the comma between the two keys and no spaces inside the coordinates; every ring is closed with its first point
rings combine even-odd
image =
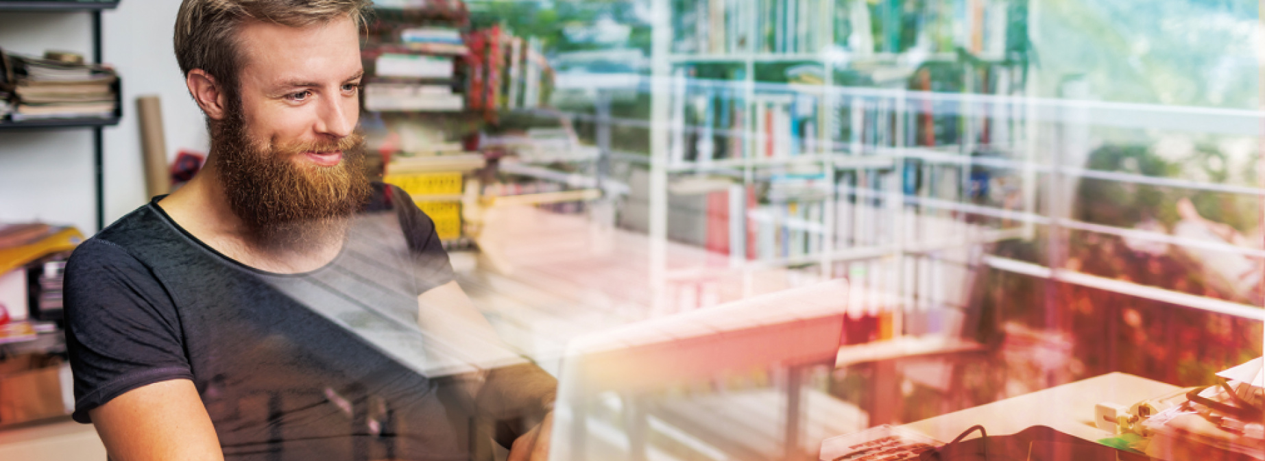
{"type": "MultiPolygon", "coordinates": [[[[35,58],[0,52],[0,67],[13,121],[108,119],[118,109],[118,76],[110,68],[85,64],[82,56],[49,52],[35,58]]],[[[0,115],[5,111],[0,107],[0,115]]]]}

